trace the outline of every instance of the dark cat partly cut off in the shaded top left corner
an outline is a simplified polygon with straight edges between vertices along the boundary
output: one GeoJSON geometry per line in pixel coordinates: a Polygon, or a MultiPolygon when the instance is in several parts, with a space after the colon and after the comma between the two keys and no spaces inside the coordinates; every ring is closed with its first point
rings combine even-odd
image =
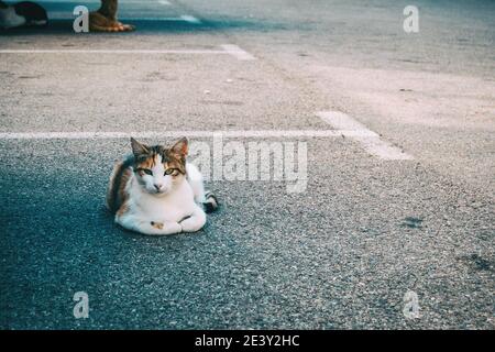
{"type": "Polygon", "coordinates": [[[7,6],[0,1],[0,28],[13,29],[19,26],[46,25],[48,16],[46,10],[35,2],[21,1],[7,6]]]}

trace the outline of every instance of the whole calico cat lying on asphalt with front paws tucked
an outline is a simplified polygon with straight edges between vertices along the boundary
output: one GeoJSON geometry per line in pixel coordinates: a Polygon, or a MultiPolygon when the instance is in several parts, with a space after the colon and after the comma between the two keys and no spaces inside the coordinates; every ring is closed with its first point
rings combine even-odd
{"type": "Polygon", "coordinates": [[[107,208],[122,228],[150,235],[199,231],[218,209],[199,169],[186,162],[188,141],[148,146],[131,138],[132,154],[110,176],[107,208]],[[204,207],[206,209],[204,209],[204,207]]]}

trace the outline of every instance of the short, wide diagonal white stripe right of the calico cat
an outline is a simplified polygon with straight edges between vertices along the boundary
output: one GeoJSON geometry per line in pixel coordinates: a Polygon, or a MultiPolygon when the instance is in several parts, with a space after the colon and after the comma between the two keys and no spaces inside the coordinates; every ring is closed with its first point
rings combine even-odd
{"type": "Polygon", "coordinates": [[[341,130],[344,136],[349,136],[364,147],[364,150],[383,160],[388,161],[409,161],[414,157],[400,148],[392,145],[388,142],[383,141],[380,135],[369,130],[361,122],[352,119],[348,114],[340,111],[320,111],[317,116],[324,122],[329,123],[332,128],[341,130]],[[361,132],[362,135],[349,134],[349,132],[361,132]]]}

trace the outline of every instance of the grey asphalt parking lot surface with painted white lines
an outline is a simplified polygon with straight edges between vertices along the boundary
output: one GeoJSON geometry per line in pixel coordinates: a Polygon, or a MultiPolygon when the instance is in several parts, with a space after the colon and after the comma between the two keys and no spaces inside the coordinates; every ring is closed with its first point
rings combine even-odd
{"type": "Polygon", "coordinates": [[[40,3],[0,34],[2,329],[495,327],[493,1],[121,1],[125,34],[40,3]],[[129,135],[180,131],[306,151],[307,179],[212,176],[200,232],[121,230],[129,135]]]}

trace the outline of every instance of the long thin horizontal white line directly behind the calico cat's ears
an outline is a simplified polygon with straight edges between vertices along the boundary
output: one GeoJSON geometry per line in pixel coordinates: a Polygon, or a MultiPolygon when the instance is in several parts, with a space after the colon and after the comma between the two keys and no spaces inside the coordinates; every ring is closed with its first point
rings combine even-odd
{"type": "Polygon", "coordinates": [[[131,131],[131,132],[1,132],[0,140],[95,140],[135,138],[338,138],[369,136],[366,131],[336,130],[221,130],[221,131],[131,131]]]}

